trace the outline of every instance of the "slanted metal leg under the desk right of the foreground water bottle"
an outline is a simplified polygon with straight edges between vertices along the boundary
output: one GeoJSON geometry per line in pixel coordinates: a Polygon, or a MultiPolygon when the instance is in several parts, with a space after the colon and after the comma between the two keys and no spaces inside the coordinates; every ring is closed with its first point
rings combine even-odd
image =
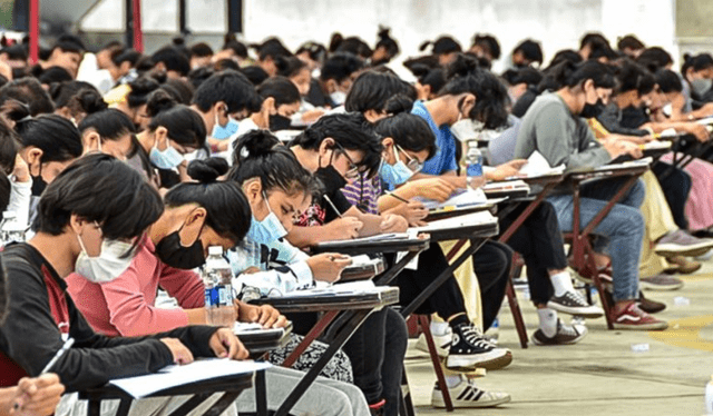
{"type": "Polygon", "coordinates": [[[282,403],[275,416],[287,416],[292,407],[300,400],[304,393],[310,388],[316,376],[322,372],[324,366],[334,357],[334,354],[344,346],[346,340],[354,334],[356,328],[367,319],[372,309],[348,310],[345,314],[352,314],[352,318],[344,325],[344,329],[330,343],[329,347],[320,359],[310,368],[310,370],[302,377],[300,383],[294,387],[290,396],[282,403]]]}

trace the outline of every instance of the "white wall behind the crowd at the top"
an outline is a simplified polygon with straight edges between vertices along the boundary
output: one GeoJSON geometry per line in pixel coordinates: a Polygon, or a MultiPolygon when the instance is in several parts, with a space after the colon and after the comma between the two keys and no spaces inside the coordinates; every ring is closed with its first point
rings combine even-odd
{"type": "MultiPolygon", "coordinates": [[[[123,30],[123,0],[102,0],[82,23],[85,30],[123,30]]],[[[545,61],[563,48],[577,48],[582,33],[600,31],[613,42],[636,33],[677,57],[675,0],[243,0],[245,39],[279,36],[290,48],[306,40],[328,43],[334,31],[373,44],[379,24],[391,27],[402,50],[448,33],[469,47],[473,33],[495,34],[504,53],[525,38],[541,41],[545,61]]],[[[143,0],[147,32],[177,30],[177,1],[143,0]]],[[[194,32],[223,33],[225,0],[188,0],[194,32]]],[[[215,44],[218,47],[218,44],[215,44]]],[[[502,59],[501,59],[502,61],[502,59]]],[[[502,62],[497,62],[501,69],[502,62]]]]}

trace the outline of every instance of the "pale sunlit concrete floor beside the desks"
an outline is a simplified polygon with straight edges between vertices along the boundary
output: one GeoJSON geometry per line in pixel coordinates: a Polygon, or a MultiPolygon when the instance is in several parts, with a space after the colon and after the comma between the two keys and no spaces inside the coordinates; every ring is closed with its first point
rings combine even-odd
{"type": "MultiPolygon", "coordinates": [[[[663,333],[607,330],[604,319],[587,320],[589,334],[579,344],[521,349],[507,307],[500,314],[500,346],[512,350],[512,364],[489,372],[477,385],[502,390],[512,400],[490,409],[456,409],[455,415],[703,415],[704,389],[713,374],[713,260],[677,291],[647,291],[666,303],[657,314],[667,319],[663,333]],[[675,297],[690,300],[674,305],[675,297]],[[634,344],[649,350],[635,353],[634,344]]],[[[537,314],[518,293],[528,335],[537,314]]],[[[565,317],[566,321],[569,317],[565,317]]],[[[410,348],[407,373],[417,414],[446,414],[430,406],[436,375],[427,355],[410,348]]]]}

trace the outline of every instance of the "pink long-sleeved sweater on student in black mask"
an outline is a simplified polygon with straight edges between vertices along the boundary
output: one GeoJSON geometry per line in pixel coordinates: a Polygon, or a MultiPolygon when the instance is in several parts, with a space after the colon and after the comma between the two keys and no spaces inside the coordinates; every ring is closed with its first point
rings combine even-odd
{"type": "Polygon", "coordinates": [[[164,265],[154,254],[154,244],[148,238],[118,278],[95,284],[71,274],[66,281],[69,295],[89,325],[108,336],[140,336],[188,325],[183,309],[154,306],[159,286],[175,297],[182,308],[205,306],[204,286],[198,275],[164,265]]]}

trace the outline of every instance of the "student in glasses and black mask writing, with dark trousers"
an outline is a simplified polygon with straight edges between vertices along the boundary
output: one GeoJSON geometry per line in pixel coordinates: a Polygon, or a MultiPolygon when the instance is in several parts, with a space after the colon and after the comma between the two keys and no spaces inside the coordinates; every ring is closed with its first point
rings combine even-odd
{"type": "MultiPolygon", "coordinates": [[[[363,116],[324,116],[291,143],[297,161],[324,184],[321,200],[300,216],[286,240],[299,248],[320,241],[350,239],[380,232],[403,232],[403,217],[363,214],[341,192],[346,178],[360,171],[377,172],[381,143],[363,116]]],[[[352,360],[354,384],[367,402],[395,415],[401,389],[401,369],[407,347],[406,323],[392,308],[372,314],[344,346],[352,360]]]]}

